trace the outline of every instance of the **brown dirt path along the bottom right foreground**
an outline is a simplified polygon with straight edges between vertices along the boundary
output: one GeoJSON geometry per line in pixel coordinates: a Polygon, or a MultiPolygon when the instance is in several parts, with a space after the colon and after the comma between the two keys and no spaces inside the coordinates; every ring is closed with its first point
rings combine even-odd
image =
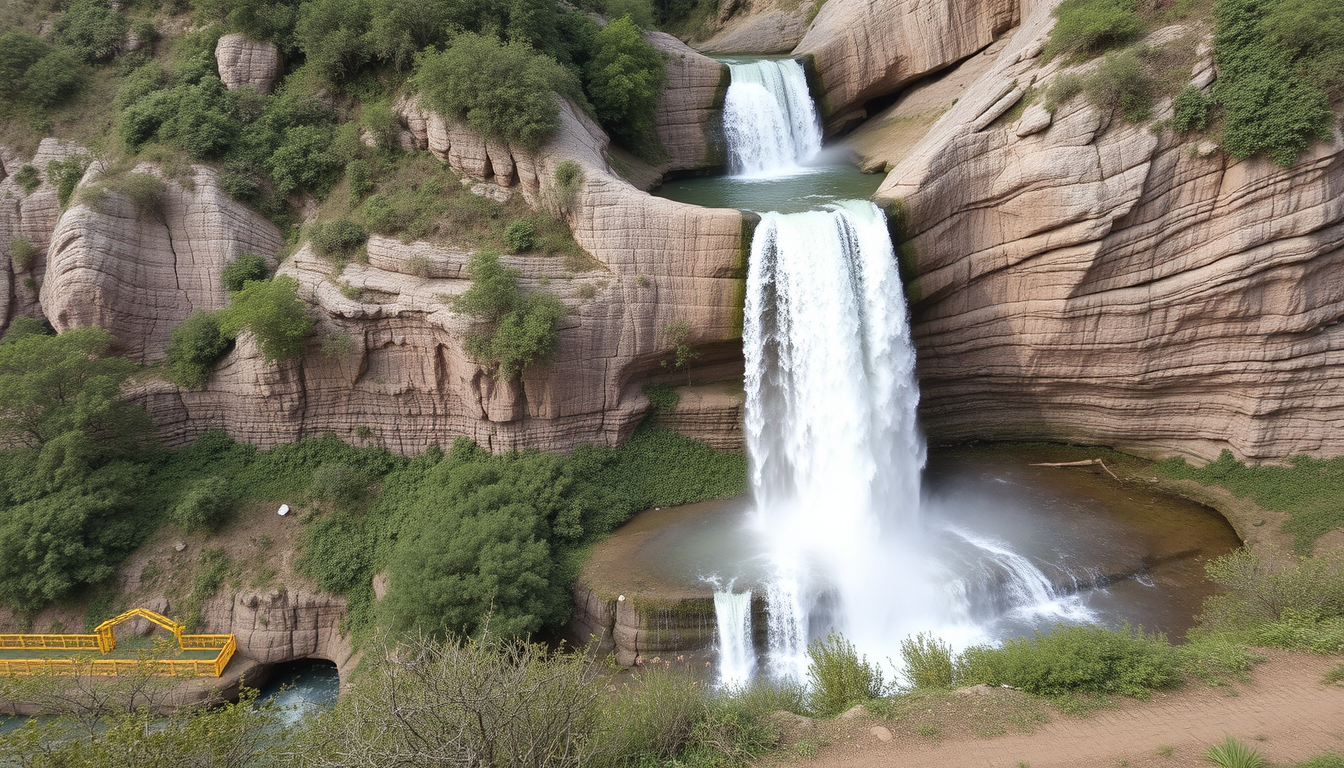
{"type": "MultiPolygon", "coordinates": [[[[1269,660],[1257,664],[1247,683],[1228,687],[1189,683],[1172,693],[1154,694],[1149,701],[1124,699],[1116,707],[1086,717],[1051,712],[1050,722],[1035,725],[1031,733],[977,736],[958,729],[954,720],[948,718],[941,721],[941,728],[921,725],[921,717],[930,722],[938,718],[935,702],[918,716],[895,721],[866,714],[818,724],[817,732],[804,738],[823,745],[813,756],[790,759],[786,764],[808,768],[1208,768],[1211,763],[1203,759],[1204,751],[1227,736],[1257,748],[1275,765],[1321,752],[1344,753],[1344,686],[1321,682],[1327,670],[1341,658],[1284,651],[1265,655],[1269,660]],[[880,728],[887,729],[886,733],[880,728]],[[888,741],[879,738],[888,734],[888,741]]],[[[961,712],[966,710],[965,699],[966,694],[945,697],[948,706],[961,712]],[[957,698],[964,701],[960,705],[952,701],[957,698]]],[[[976,712],[988,712],[988,707],[976,712]]],[[[805,753],[810,748],[793,752],[805,753]]]]}

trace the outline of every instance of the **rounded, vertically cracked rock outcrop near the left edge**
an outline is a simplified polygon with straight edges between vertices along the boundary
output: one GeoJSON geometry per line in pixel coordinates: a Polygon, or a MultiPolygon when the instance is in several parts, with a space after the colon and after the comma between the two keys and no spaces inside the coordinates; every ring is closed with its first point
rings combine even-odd
{"type": "MultiPolygon", "coordinates": [[[[151,165],[136,172],[157,175],[151,165]]],[[[172,328],[194,309],[228,304],[226,264],[242,253],[271,258],[281,245],[276,225],[231,200],[211,168],[194,168],[185,184],[164,180],[151,207],[137,207],[97,167],[79,190],[50,237],[43,312],[58,332],[106,328],[114,350],[137,362],[161,360],[172,328]]]]}

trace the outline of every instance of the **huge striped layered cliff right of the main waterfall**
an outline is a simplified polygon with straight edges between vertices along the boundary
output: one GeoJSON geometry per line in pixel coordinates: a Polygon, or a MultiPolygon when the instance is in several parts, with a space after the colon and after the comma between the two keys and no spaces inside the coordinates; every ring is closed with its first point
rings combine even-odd
{"type": "Polygon", "coordinates": [[[1059,67],[1048,13],[879,191],[907,217],[930,437],[1344,453],[1344,137],[1282,168],[1082,97],[1004,118],[1059,67]]]}

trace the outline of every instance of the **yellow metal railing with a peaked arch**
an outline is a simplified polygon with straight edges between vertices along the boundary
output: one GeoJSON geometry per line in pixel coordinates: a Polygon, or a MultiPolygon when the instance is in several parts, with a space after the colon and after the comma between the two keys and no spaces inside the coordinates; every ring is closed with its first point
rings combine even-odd
{"type": "Polygon", "coordinates": [[[183,651],[219,651],[214,659],[0,659],[0,675],[74,675],[93,674],[117,677],[140,668],[141,664],[155,666],[156,675],[220,677],[224,667],[238,651],[234,635],[183,635],[184,627],[144,608],[126,611],[116,619],[98,625],[95,635],[0,635],[0,650],[40,650],[40,651],[101,651],[108,654],[117,647],[113,627],[129,619],[142,617],[172,632],[177,647],[183,651]]]}

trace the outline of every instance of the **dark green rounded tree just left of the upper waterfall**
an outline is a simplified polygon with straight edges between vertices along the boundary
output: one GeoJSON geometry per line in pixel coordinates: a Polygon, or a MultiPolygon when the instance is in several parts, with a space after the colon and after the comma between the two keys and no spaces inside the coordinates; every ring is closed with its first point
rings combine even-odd
{"type": "Polygon", "coordinates": [[[629,16],[597,34],[585,83],[597,118],[609,133],[632,145],[653,133],[667,71],[663,54],[644,42],[629,16]]]}

